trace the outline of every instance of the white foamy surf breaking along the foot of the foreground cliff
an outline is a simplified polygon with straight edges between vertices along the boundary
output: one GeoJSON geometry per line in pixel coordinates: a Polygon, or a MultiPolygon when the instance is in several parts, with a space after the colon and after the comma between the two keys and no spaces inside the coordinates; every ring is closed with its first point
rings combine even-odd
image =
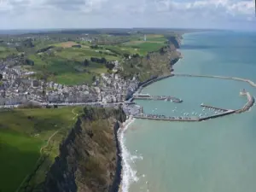
{"type": "Polygon", "coordinates": [[[120,186],[121,192],[128,192],[131,183],[137,182],[139,178],[137,177],[137,171],[131,168],[131,162],[137,159],[143,159],[141,156],[131,155],[128,149],[125,147],[125,131],[128,129],[129,125],[134,122],[135,119],[128,119],[125,121],[122,128],[119,129],[118,137],[119,144],[121,147],[121,155],[122,155],[122,181],[120,186]]]}

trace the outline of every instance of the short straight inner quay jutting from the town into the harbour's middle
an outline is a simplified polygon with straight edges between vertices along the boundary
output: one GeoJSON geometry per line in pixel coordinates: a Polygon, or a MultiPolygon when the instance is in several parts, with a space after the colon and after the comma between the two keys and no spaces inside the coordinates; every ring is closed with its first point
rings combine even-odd
{"type": "Polygon", "coordinates": [[[174,96],[150,96],[149,94],[137,94],[137,95],[133,95],[132,98],[137,100],[183,102],[183,100],[174,96]]]}

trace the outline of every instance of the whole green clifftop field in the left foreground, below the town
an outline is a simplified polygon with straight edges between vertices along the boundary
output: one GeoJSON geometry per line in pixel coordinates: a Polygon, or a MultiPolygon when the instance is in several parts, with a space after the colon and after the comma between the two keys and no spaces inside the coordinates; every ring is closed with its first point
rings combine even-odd
{"type": "MultiPolygon", "coordinates": [[[[19,188],[25,177],[33,172],[41,155],[40,148],[47,146],[42,153],[48,154],[47,164],[42,166],[49,166],[53,162],[58,154],[59,143],[75,122],[74,113],[80,113],[80,110],[56,108],[0,112],[0,170],[4,172],[0,177],[0,191],[14,192],[19,188]],[[46,145],[56,131],[59,132],[46,145]]],[[[43,180],[44,172],[38,170],[30,183],[43,180]]]]}

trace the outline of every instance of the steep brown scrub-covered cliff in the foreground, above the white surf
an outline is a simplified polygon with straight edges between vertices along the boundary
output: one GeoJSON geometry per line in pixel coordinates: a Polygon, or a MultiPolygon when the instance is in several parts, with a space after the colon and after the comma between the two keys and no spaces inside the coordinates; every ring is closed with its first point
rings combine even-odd
{"type": "Polygon", "coordinates": [[[118,121],[125,121],[121,108],[84,108],[60,145],[60,155],[47,174],[44,192],[117,191],[121,171],[118,121]]]}

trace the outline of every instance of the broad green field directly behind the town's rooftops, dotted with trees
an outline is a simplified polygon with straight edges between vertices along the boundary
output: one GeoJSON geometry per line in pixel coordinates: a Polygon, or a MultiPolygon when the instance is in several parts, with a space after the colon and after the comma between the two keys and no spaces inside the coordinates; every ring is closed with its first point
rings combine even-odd
{"type": "Polygon", "coordinates": [[[107,61],[121,59],[121,56],[115,56],[108,49],[91,49],[87,45],[83,45],[82,48],[73,48],[71,47],[73,44],[77,43],[52,44],[56,48],[51,50],[50,55],[44,53],[29,55],[29,59],[34,61],[34,66],[30,68],[38,73],[48,74],[49,80],[59,84],[91,84],[94,76],[107,73],[108,68],[104,64],[91,62],[90,57],[104,57],[107,61]],[[89,66],[84,66],[85,59],[90,61],[89,66]]]}

